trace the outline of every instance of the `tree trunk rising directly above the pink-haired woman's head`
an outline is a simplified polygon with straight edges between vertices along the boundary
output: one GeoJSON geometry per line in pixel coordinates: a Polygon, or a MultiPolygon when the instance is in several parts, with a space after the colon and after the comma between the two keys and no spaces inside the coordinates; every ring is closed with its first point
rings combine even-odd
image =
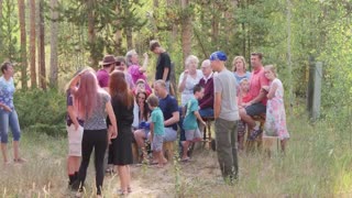
{"type": "Polygon", "coordinates": [[[88,44],[90,46],[90,63],[91,66],[98,67],[98,59],[96,57],[96,30],[95,30],[95,0],[88,0],[88,44]]]}

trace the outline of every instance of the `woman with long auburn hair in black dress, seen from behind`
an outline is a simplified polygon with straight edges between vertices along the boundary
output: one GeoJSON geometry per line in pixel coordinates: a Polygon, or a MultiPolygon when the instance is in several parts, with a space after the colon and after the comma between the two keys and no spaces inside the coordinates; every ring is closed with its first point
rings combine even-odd
{"type": "MultiPolygon", "coordinates": [[[[133,163],[132,155],[132,122],[133,122],[133,105],[134,99],[128,84],[124,80],[124,74],[116,70],[110,75],[109,82],[111,103],[117,125],[119,129],[118,136],[111,140],[109,158],[110,163],[118,166],[120,177],[120,195],[131,193],[131,174],[130,164],[133,163]]],[[[110,119],[107,120],[108,125],[112,124],[110,119]]]]}

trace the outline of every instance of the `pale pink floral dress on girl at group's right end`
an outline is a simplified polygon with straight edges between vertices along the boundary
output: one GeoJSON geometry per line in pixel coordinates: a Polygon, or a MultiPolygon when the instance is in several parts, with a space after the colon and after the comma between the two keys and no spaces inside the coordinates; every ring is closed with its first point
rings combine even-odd
{"type": "Polygon", "coordinates": [[[277,85],[275,96],[267,100],[266,103],[266,120],[265,134],[268,136],[278,136],[280,140],[289,139],[286,127],[286,112],[284,105],[284,87],[279,79],[275,78],[270,84],[270,89],[273,85],[277,85]]]}

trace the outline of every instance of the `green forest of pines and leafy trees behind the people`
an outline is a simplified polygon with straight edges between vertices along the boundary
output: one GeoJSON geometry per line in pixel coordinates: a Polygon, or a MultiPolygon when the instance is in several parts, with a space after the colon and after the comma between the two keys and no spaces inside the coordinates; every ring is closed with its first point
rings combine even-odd
{"type": "Polygon", "coordinates": [[[202,61],[224,51],[231,69],[234,56],[249,62],[262,52],[284,82],[288,117],[324,125],[311,135],[327,139],[321,152],[339,158],[338,168],[346,168],[339,174],[351,186],[351,12],[350,0],[0,0],[0,62],[16,63],[22,129],[57,136],[66,134],[65,84],[82,66],[98,69],[105,54],[147,52],[152,80],[153,38],[170,54],[176,79],[190,54],[202,61]],[[314,62],[323,63],[315,121],[302,110],[314,62]]]}

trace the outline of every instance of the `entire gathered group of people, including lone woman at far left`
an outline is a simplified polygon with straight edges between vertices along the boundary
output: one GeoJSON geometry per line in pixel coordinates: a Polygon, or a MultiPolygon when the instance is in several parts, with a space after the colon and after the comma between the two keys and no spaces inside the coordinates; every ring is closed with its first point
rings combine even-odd
{"type": "MultiPolygon", "coordinates": [[[[232,70],[226,66],[228,56],[217,51],[201,62],[190,55],[179,76],[177,90],[180,105],[170,95],[169,74],[172,62],[158,41],[151,41],[150,50],[157,55],[155,78],[146,76],[148,55],[140,65],[138,53],[106,55],[102,68],[95,72],[85,68],[69,81],[66,125],[69,152],[67,174],[69,186],[80,196],[87,168],[95,152],[96,190],[101,197],[105,172],[118,172],[118,194],[132,191],[130,165],[133,164],[132,143],[140,148],[141,161],[163,168],[163,144],[175,142],[179,136],[180,161],[188,162],[188,148],[201,141],[206,127],[204,118],[215,119],[216,145],[222,177],[233,182],[238,178],[238,150],[244,148],[244,136],[254,141],[263,129],[253,119],[266,114],[265,134],[278,136],[285,151],[289,134],[286,128],[284,89],[273,65],[263,66],[261,53],[251,54],[252,73],[248,72],[245,58],[235,56],[232,70]],[[246,130],[249,129],[249,130],[246,130]],[[179,135],[178,135],[179,131],[179,135]],[[148,146],[152,155],[148,155],[148,146]]],[[[13,106],[13,67],[1,65],[0,78],[0,135],[4,164],[8,127],[13,133],[14,162],[23,163],[19,154],[20,127],[13,106]]]]}

